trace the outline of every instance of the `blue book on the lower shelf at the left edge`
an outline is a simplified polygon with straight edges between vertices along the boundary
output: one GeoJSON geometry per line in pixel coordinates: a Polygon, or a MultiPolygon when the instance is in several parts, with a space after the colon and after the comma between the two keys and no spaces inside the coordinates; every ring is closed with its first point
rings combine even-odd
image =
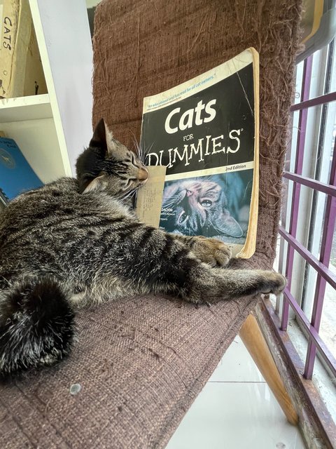
{"type": "Polygon", "coordinates": [[[3,203],[43,186],[13,139],[0,138],[0,197],[3,203]]]}

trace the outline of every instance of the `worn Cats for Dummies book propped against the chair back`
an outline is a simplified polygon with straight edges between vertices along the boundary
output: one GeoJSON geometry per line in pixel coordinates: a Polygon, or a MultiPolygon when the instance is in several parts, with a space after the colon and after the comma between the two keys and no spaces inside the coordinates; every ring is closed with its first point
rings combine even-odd
{"type": "Polygon", "coordinates": [[[234,257],[253,255],[258,83],[258,52],[248,48],[190,81],[144,98],[141,149],[150,176],[138,193],[141,220],[175,234],[220,239],[234,257]]]}

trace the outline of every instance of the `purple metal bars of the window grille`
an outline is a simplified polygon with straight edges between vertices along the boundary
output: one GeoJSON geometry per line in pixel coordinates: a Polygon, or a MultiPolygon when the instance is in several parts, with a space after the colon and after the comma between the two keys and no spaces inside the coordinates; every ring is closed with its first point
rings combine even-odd
{"type": "Polygon", "coordinates": [[[309,58],[304,60],[300,102],[290,107],[290,111],[292,113],[295,111],[299,112],[299,132],[297,136],[294,172],[283,172],[284,178],[293,181],[293,194],[290,208],[289,232],[287,232],[286,229],[284,229],[282,226],[280,226],[279,228],[279,234],[281,238],[288,243],[285,270],[288,284],[283,291],[283,307],[280,329],[287,330],[289,308],[291,307],[294,310],[297,319],[307,331],[308,335],[307,355],[303,373],[304,377],[306,379],[311,379],[314,370],[314,362],[316,359],[316,351],[318,351],[318,353],[321,355],[328,368],[330,369],[332,375],[336,379],[335,357],[331,354],[328,347],[321,339],[320,335],[318,335],[321,324],[326,283],[329,283],[330,286],[336,289],[336,276],[330,271],[330,269],[328,269],[332,246],[332,236],[334,233],[336,220],[336,139],[332,155],[329,184],[327,185],[323,182],[319,182],[309,177],[302,176],[308,109],[309,107],[326,105],[328,104],[328,102],[335,101],[336,92],[326,93],[325,95],[321,95],[317,98],[309,99],[313,56],[314,55],[311,55],[309,56],[309,58]],[[299,215],[300,188],[302,185],[310,187],[316,192],[323,192],[327,195],[325,205],[325,219],[321,240],[321,253],[318,259],[296,239],[297,221],[299,215]],[[298,302],[295,300],[295,297],[293,297],[293,295],[290,293],[295,251],[299,253],[304,258],[304,260],[317,272],[317,281],[310,321],[304,314],[304,311],[302,310],[298,302]]]}

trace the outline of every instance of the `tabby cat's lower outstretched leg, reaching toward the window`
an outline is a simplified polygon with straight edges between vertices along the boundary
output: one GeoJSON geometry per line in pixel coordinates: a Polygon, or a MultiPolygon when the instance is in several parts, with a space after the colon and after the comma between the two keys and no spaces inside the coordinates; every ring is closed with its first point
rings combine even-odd
{"type": "Polygon", "coordinates": [[[167,293],[195,303],[217,302],[279,293],[286,285],[283,276],[274,272],[211,268],[179,239],[153,227],[132,225],[132,236],[114,241],[97,279],[104,279],[104,289],[111,294],[118,289],[118,296],[167,293]]]}

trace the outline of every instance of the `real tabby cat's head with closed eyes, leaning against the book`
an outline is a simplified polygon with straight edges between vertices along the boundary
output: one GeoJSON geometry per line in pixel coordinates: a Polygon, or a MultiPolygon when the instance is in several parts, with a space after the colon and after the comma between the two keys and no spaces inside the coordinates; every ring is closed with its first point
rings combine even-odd
{"type": "Polygon", "coordinates": [[[148,179],[144,163],[113,138],[101,119],[90,145],[76,162],[80,193],[105,191],[112,196],[130,196],[148,179]]]}

